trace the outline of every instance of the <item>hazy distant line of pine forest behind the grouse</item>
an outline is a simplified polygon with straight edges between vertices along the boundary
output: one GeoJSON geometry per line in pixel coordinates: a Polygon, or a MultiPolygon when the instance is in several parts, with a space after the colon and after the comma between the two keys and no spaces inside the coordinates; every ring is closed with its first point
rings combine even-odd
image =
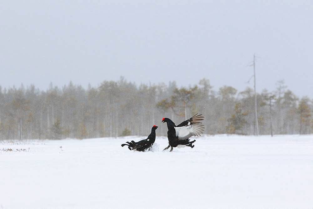
{"type": "MultiPolygon", "coordinates": [[[[310,134],[313,132],[313,101],[299,99],[284,81],[277,89],[257,94],[260,134],[310,134]]],[[[238,92],[231,86],[213,90],[208,79],[198,85],[177,87],[104,81],[84,89],[70,82],[62,88],[41,91],[0,87],[0,139],[61,139],[147,135],[163,117],[179,123],[201,113],[206,134],[255,134],[254,92],[238,92]]]]}

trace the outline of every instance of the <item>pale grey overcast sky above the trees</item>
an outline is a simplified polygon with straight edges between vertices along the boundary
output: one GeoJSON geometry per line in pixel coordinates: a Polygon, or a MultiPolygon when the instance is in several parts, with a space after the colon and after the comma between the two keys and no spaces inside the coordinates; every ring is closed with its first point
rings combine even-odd
{"type": "Polygon", "coordinates": [[[313,98],[312,1],[1,1],[0,85],[178,85],[243,90],[285,79],[313,98]]]}

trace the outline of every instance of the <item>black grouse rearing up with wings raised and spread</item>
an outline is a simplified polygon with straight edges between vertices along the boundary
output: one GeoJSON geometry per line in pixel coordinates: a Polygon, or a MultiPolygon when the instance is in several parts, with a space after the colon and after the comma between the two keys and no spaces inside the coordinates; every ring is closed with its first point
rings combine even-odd
{"type": "MultiPolygon", "coordinates": [[[[201,114],[202,115],[202,114],[201,114]]],[[[171,147],[171,151],[173,151],[173,147],[184,147],[189,146],[191,148],[194,147],[192,143],[196,140],[190,141],[191,136],[201,136],[200,134],[203,133],[204,125],[199,122],[203,120],[203,116],[198,115],[198,113],[188,120],[183,121],[179,125],[175,125],[175,123],[169,118],[163,118],[162,122],[167,123],[167,139],[168,139],[168,146],[164,149],[167,150],[171,147]]]]}

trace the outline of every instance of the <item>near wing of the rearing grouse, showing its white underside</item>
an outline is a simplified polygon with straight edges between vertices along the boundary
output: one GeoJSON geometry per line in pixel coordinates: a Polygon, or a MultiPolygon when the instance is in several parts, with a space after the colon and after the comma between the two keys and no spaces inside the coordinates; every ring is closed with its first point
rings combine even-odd
{"type": "Polygon", "coordinates": [[[178,140],[189,139],[192,136],[201,136],[204,131],[204,125],[192,124],[186,126],[175,127],[176,136],[178,140]]]}

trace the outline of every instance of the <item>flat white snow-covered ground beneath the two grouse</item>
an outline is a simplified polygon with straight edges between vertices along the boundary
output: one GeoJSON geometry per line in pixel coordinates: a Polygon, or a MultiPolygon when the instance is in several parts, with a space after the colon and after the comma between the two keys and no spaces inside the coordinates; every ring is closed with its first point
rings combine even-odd
{"type": "Polygon", "coordinates": [[[313,135],[143,138],[0,141],[0,208],[313,207],[313,135]]]}

